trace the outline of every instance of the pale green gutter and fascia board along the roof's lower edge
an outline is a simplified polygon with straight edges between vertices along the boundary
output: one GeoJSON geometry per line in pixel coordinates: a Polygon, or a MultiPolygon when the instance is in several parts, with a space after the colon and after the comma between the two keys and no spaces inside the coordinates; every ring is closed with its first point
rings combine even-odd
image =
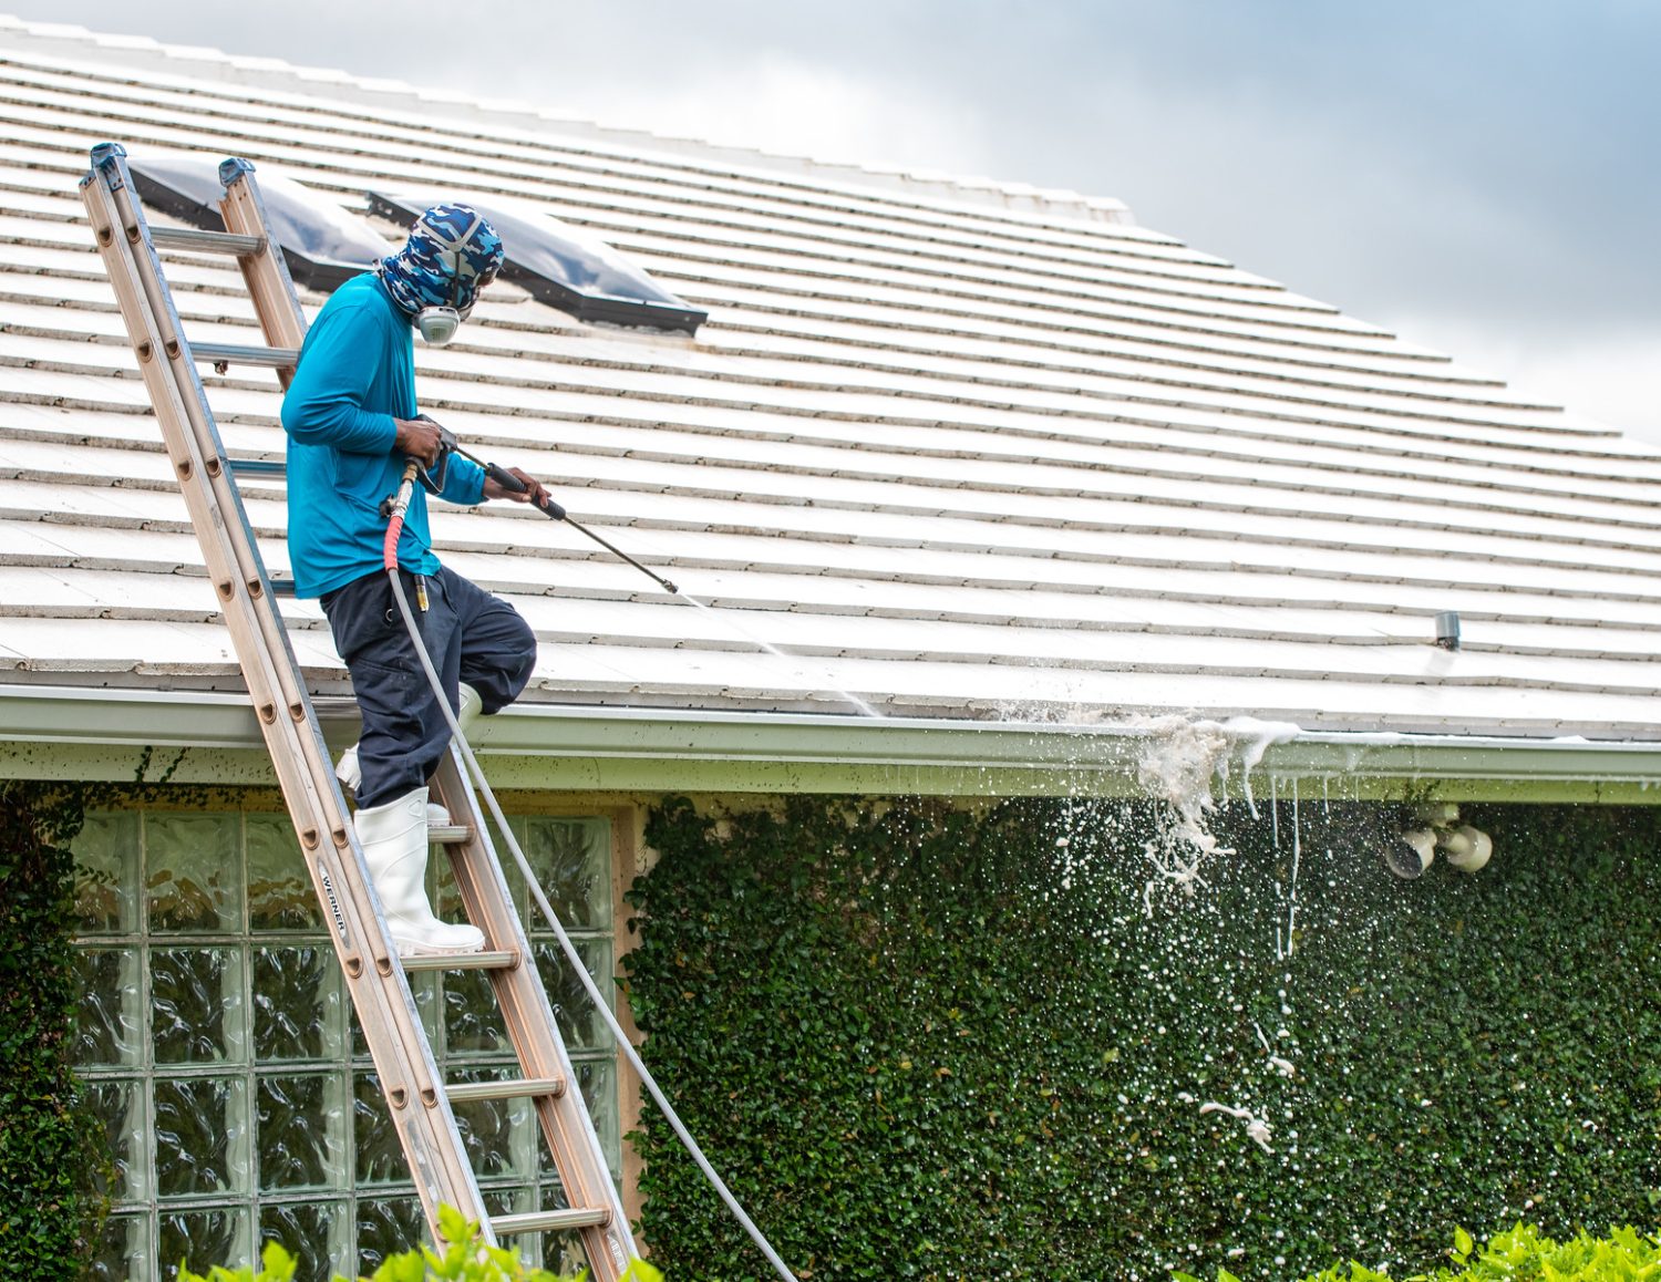
{"type": "MultiPolygon", "coordinates": [[[[350,701],[329,739],[352,739],[350,701]]],[[[475,731],[492,782],[576,792],[1134,795],[1144,727],[522,704],[475,731]]],[[[1661,742],[1299,732],[1219,790],[1661,802],[1661,742]]],[[[0,776],[271,784],[236,694],[0,684],[0,776]],[[149,749],[146,757],[146,749],[149,749]],[[183,749],[183,754],[181,754],[183,749]]],[[[1284,792],[1281,792],[1284,795],[1284,792]]]]}

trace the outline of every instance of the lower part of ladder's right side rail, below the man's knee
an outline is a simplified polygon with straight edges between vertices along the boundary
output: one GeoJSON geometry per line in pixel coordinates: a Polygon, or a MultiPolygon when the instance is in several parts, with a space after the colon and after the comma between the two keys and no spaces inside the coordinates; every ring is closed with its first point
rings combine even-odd
{"type": "Polygon", "coordinates": [[[636,1255],[635,1239],[628,1229],[628,1214],[616,1184],[611,1182],[600,1136],[583,1101],[576,1071],[553,1015],[553,1005],[548,1001],[546,988],[537,970],[537,957],[525,933],[525,923],[513,907],[502,860],[490,842],[478,797],[467,779],[460,749],[453,744],[439,762],[434,785],[439,800],[450,814],[467,815],[472,829],[468,842],[447,847],[468,918],[485,930],[495,947],[520,950],[520,965],[512,970],[490,971],[490,983],[523,1074],[565,1081],[563,1093],[533,1098],[537,1119],[541,1124],[548,1152],[555,1161],[570,1206],[603,1207],[611,1212],[606,1224],[583,1226],[578,1232],[596,1282],[616,1282],[636,1255]]]}

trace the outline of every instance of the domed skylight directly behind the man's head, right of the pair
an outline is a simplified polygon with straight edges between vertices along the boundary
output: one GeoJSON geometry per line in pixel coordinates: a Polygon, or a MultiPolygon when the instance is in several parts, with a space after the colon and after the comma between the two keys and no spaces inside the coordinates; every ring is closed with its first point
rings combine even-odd
{"type": "Polygon", "coordinates": [[[404,226],[443,201],[470,204],[490,219],[507,247],[503,281],[578,320],[693,334],[709,319],[708,312],[678,299],[611,246],[560,223],[530,201],[465,191],[369,193],[370,213],[404,226]]]}

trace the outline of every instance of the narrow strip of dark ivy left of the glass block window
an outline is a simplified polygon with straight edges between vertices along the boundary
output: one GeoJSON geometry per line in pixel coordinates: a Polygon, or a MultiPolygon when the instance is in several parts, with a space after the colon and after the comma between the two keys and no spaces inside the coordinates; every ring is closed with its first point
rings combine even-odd
{"type": "Polygon", "coordinates": [[[105,1199],[100,1128],[71,1073],[80,800],[0,780],[0,1274],[75,1277],[105,1199]]]}

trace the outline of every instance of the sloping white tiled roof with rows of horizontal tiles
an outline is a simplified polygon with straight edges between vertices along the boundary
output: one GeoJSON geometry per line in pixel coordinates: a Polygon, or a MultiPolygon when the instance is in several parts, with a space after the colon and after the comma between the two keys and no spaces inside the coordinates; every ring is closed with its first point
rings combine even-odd
{"type": "MultiPolygon", "coordinates": [[[[435,511],[541,638],[528,699],[1661,737],[1656,450],[1173,237],[27,43],[0,65],[0,681],[239,683],[75,189],[116,138],[355,211],[540,199],[709,307],[689,340],[500,289],[419,354],[477,452],[713,604],[523,508],[435,511]]],[[[231,266],[169,279],[193,337],[256,340],[231,266]]],[[[201,375],[233,457],[279,458],[274,375],[201,375]]],[[[281,478],[244,505],[286,578],[281,478]]],[[[344,689],[317,604],[282,609],[344,689]]]]}

